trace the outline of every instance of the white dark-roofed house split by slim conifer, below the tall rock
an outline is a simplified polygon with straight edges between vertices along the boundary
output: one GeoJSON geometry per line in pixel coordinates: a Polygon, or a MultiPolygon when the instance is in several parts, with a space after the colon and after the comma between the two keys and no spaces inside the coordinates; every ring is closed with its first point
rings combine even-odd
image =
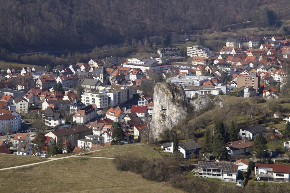
{"type": "MultiPolygon", "coordinates": [[[[183,154],[183,158],[185,159],[189,159],[192,153],[196,156],[199,153],[199,150],[201,150],[201,146],[194,140],[179,143],[178,145],[178,151],[183,154]]],[[[161,150],[173,153],[173,142],[161,144],[161,150]]]]}

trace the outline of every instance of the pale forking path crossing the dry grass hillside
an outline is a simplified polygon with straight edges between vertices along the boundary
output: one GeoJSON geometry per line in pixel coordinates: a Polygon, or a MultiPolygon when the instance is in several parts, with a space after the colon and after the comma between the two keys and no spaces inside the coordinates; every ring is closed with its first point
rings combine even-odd
{"type": "MultiPolygon", "coordinates": [[[[138,146],[138,145],[143,145],[143,143],[137,143],[131,146],[138,146]]],[[[131,147],[130,146],[130,147],[131,147]]],[[[93,150],[93,151],[89,151],[89,152],[85,152],[85,153],[93,153],[93,152],[97,152],[97,151],[105,151],[105,150],[112,150],[112,149],[120,149],[120,148],[126,148],[127,146],[121,146],[121,147],[114,147],[114,148],[109,148],[109,149],[97,149],[97,150],[93,150]]],[[[30,164],[26,164],[26,165],[21,165],[21,166],[14,166],[14,167],[9,167],[9,168],[2,168],[1,170],[7,170],[7,169],[16,169],[16,168],[22,168],[22,167],[27,167],[27,166],[34,166],[37,164],[41,164],[41,163],[46,163],[46,162],[51,162],[51,161],[56,161],[59,159],[67,159],[67,158],[72,158],[72,157],[87,157],[87,158],[97,158],[97,159],[114,159],[111,157],[91,157],[91,156],[80,156],[84,153],[77,153],[77,154],[73,154],[71,156],[66,156],[66,157],[59,157],[59,158],[48,158],[49,160],[43,161],[43,162],[36,162],[36,163],[30,163],[30,164]]]]}

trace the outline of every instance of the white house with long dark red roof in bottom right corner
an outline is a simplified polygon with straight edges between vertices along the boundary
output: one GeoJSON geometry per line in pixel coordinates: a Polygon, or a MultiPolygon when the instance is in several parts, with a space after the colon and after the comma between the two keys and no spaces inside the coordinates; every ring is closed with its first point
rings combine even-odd
{"type": "Polygon", "coordinates": [[[254,171],[258,181],[289,182],[289,165],[256,163],[254,171]]]}

